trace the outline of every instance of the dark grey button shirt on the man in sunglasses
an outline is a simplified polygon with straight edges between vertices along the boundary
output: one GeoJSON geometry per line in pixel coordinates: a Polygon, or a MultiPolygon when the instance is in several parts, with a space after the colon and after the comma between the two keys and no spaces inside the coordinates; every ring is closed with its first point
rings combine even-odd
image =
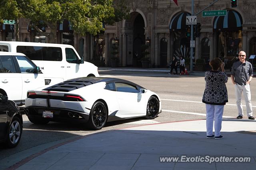
{"type": "Polygon", "coordinates": [[[248,61],[245,61],[245,63],[236,61],[232,66],[231,75],[234,76],[237,84],[240,86],[246,85],[246,82],[248,82],[250,76],[253,77],[252,64],[248,61]]]}

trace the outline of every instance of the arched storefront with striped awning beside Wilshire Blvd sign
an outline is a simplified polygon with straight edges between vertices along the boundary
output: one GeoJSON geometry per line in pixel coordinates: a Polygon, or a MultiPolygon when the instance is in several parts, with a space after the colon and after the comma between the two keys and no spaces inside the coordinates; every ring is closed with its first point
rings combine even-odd
{"type": "Polygon", "coordinates": [[[220,57],[231,68],[239,51],[242,50],[242,16],[235,10],[227,10],[226,16],[216,16],[213,31],[216,36],[214,57],[220,57]]]}

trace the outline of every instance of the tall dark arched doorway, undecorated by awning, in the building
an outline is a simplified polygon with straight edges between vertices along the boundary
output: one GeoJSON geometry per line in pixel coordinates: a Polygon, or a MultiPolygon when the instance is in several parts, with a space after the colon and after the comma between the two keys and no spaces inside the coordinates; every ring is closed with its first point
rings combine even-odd
{"type": "Polygon", "coordinates": [[[140,59],[142,57],[141,46],[145,44],[145,24],[141,14],[135,12],[133,24],[133,63],[132,66],[141,66],[140,59]]]}

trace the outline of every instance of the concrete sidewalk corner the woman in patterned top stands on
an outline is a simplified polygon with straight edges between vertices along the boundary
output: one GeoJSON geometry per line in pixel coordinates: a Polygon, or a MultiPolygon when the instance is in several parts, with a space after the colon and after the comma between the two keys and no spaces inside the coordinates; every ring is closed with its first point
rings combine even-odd
{"type": "MultiPolygon", "coordinates": [[[[256,169],[256,121],[223,119],[223,139],[206,139],[206,120],[104,131],[59,144],[9,169],[183,170],[256,169]],[[250,162],[160,162],[160,156],[249,156],[250,162]]],[[[191,159],[192,160],[192,159],[191,159]]],[[[217,160],[217,159],[216,159],[217,160]]]]}

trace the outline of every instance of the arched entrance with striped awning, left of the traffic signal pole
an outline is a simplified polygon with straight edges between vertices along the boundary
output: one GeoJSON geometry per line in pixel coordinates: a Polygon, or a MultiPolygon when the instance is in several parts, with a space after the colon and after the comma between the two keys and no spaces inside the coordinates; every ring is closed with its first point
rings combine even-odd
{"type": "Polygon", "coordinates": [[[173,47],[171,54],[179,60],[180,55],[186,60],[190,60],[190,25],[186,25],[186,16],[191,16],[188,12],[179,12],[172,17],[170,22],[170,34],[172,35],[173,47]]]}

